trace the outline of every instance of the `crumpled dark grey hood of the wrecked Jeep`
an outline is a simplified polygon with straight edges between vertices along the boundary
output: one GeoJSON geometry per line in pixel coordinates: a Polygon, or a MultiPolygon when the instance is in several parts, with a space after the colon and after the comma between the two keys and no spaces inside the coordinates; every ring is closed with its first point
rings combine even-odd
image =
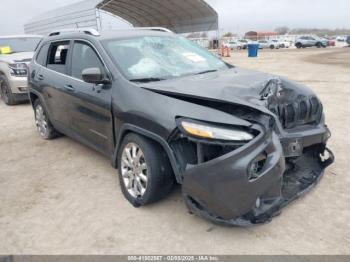
{"type": "MultiPolygon", "coordinates": [[[[233,68],[203,75],[187,76],[160,82],[142,84],[142,87],[159,92],[210,100],[230,102],[266,111],[262,98],[271,80],[279,79],[289,99],[313,95],[307,87],[283,77],[242,68],[233,68]]],[[[277,90],[276,90],[277,92],[277,90]]]]}

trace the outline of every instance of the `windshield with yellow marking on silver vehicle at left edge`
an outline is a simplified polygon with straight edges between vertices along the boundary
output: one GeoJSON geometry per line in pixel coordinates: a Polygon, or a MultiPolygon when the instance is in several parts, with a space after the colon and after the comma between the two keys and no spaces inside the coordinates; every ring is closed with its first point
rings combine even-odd
{"type": "Polygon", "coordinates": [[[40,37],[0,38],[0,53],[33,52],[40,40],[40,37]]]}

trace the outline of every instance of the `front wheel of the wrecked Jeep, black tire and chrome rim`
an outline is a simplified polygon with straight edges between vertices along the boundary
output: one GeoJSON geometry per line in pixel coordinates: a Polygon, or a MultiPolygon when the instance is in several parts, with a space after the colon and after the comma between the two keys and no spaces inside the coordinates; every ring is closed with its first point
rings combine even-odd
{"type": "Polygon", "coordinates": [[[137,134],[131,133],[124,138],[117,161],[123,195],[134,207],[161,200],[175,184],[163,148],[137,134]]]}

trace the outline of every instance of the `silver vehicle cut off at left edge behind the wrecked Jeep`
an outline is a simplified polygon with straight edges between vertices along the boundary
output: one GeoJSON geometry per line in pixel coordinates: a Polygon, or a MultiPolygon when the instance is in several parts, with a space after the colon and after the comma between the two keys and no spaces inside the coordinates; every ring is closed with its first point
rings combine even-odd
{"type": "Polygon", "coordinates": [[[0,36],[0,95],[7,105],[29,101],[27,66],[41,36],[0,36]]]}

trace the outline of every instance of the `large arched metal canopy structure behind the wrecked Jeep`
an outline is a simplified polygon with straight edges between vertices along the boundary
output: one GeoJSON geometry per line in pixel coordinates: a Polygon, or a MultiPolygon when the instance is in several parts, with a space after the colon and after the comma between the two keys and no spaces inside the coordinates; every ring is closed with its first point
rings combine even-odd
{"type": "Polygon", "coordinates": [[[218,29],[218,14],[204,0],[85,0],[42,14],[24,30],[42,35],[65,28],[101,30],[99,11],[134,27],[165,27],[176,33],[218,29]]]}

